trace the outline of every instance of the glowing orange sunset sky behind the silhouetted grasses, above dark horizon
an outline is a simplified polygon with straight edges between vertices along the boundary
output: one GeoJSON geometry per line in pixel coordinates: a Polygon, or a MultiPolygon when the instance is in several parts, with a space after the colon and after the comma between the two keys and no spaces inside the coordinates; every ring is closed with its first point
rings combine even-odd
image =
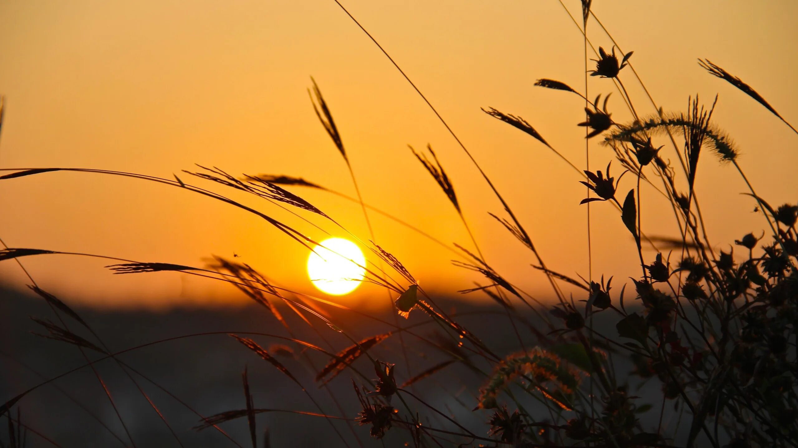
{"type": "MultiPolygon", "coordinates": [[[[532,85],[548,77],[584,89],[582,37],[559,2],[343,3],[492,176],[547,265],[587,276],[586,208],[579,206],[585,192],[578,176],[536,140],[480,111],[493,106],[523,116],[583,167],[584,130],[575,126],[584,119],[582,100],[532,85]]],[[[737,141],[741,166],[757,192],[774,205],[796,201],[798,137],[748,96],[705,73],[696,58],[708,57],[741,77],[798,122],[798,3],[594,3],[623,49],[634,50],[631,61],[655,100],[666,110],[683,110],[691,94],[711,101],[720,93],[713,118],[737,141]]],[[[579,2],[566,5],[578,15],[579,2]]],[[[611,46],[595,22],[588,34],[595,45],[611,46]]],[[[452,206],[407,148],[431,143],[488,261],[531,293],[547,295],[543,277],[528,268],[531,253],[486,213],[500,213],[500,204],[472,163],[332,0],[0,2],[0,92],[7,106],[0,167],[94,167],[171,177],[200,163],[231,173],[298,175],[354,195],[345,163],[314,116],[306,92],[310,76],[337,120],[365,202],[445,242],[472,247],[452,206]]],[[[622,79],[638,109],[653,112],[628,69],[622,79]]],[[[610,81],[591,78],[591,96],[611,91],[610,81]]],[[[629,120],[618,92],[609,104],[615,120],[629,120]]],[[[610,160],[598,139],[591,140],[591,159],[594,169],[610,160]]],[[[634,180],[624,182],[626,191],[634,180]]],[[[294,191],[368,238],[357,204],[294,191]]],[[[701,159],[697,191],[717,247],[728,249],[733,239],[764,228],[761,215],[750,213],[753,202],[739,195],[745,185],[733,168],[709,155],[701,159]]],[[[643,198],[643,230],[677,234],[665,204],[645,189],[643,198]]],[[[270,204],[247,203],[323,238],[270,204]]],[[[49,173],[0,183],[0,210],[0,238],[12,247],[188,265],[235,252],[282,285],[316,293],[305,273],[307,250],[258,218],[176,188],[49,173]]],[[[591,210],[594,274],[637,275],[634,243],[617,212],[602,203],[591,210]]],[[[426,288],[453,293],[480,280],[450,265],[452,253],[385,218],[371,218],[377,242],[426,288]]],[[[219,303],[232,292],[174,273],[113,276],[97,260],[22,261],[43,288],[98,306],[219,303]]],[[[24,288],[12,262],[0,263],[0,278],[24,288]]],[[[385,297],[364,287],[340,300],[385,297]]]]}

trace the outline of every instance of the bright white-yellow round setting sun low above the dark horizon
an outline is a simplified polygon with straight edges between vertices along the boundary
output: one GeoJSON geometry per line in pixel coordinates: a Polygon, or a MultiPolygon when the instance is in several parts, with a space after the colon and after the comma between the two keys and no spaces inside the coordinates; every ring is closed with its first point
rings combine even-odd
{"type": "Polygon", "coordinates": [[[358,245],[344,238],[322,241],[307,258],[310,281],[316,288],[334,296],[351,293],[358,288],[364,273],[363,253],[358,245]]]}

